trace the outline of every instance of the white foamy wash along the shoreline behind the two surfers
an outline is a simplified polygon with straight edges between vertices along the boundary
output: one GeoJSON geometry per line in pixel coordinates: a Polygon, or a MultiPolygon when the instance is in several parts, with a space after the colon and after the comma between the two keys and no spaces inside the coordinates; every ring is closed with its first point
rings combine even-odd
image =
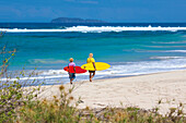
{"type": "MultiPolygon", "coordinates": [[[[94,78],[115,77],[115,76],[129,76],[141,75],[158,72],[166,72],[172,70],[179,70],[186,67],[185,57],[154,57],[153,59],[162,59],[161,61],[141,61],[141,62],[124,62],[115,63],[108,70],[97,71],[94,78]]],[[[39,70],[38,76],[21,77],[20,81],[25,79],[46,79],[46,84],[56,84],[58,81],[68,83],[69,75],[63,70],[39,70]]],[[[75,81],[89,79],[89,72],[84,74],[77,74],[75,81]]],[[[7,81],[7,78],[1,78],[7,81]]],[[[18,81],[11,78],[8,81],[18,81]]]]}

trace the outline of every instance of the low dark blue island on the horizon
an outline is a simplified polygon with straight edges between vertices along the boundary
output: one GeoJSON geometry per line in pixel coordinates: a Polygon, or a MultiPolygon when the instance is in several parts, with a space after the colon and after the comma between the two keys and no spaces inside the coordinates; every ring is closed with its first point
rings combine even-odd
{"type": "Polygon", "coordinates": [[[101,20],[83,20],[79,17],[57,17],[51,20],[51,23],[107,23],[101,20]]]}

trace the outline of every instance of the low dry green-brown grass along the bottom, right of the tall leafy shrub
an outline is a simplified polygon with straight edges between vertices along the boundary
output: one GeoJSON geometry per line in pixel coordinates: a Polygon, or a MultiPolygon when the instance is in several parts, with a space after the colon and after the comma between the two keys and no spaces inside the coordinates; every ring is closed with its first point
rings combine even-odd
{"type": "Polygon", "coordinates": [[[158,108],[143,110],[136,107],[128,108],[102,108],[78,109],[71,106],[73,88],[65,90],[59,87],[60,98],[54,96],[53,100],[33,100],[19,108],[16,118],[11,121],[18,123],[185,123],[186,118],[181,111],[182,103],[177,108],[171,108],[170,113],[161,115],[158,108]]]}

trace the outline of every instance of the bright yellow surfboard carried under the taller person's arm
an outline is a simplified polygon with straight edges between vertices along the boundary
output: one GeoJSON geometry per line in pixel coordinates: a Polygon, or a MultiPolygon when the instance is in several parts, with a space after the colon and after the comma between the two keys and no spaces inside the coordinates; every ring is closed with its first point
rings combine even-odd
{"type": "MultiPolygon", "coordinates": [[[[96,67],[96,71],[103,71],[103,70],[107,70],[108,67],[111,67],[111,65],[107,63],[104,63],[104,62],[95,62],[95,67],[96,67]]],[[[89,70],[89,71],[95,71],[93,63],[83,64],[81,66],[81,69],[89,70]]]]}

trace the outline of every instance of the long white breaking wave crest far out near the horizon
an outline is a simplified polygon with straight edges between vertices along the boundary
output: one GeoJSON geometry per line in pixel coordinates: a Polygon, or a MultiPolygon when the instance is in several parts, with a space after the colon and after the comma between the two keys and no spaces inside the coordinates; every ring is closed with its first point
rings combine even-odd
{"type": "Polygon", "coordinates": [[[102,32],[126,32],[126,30],[186,30],[186,27],[127,27],[127,26],[72,26],[61,29],[21,29],[21,28],[0,28],[0,32],[7,33],[47,33],[47,32],[81,32],[81,33],[102,33],[102,32]]]}

